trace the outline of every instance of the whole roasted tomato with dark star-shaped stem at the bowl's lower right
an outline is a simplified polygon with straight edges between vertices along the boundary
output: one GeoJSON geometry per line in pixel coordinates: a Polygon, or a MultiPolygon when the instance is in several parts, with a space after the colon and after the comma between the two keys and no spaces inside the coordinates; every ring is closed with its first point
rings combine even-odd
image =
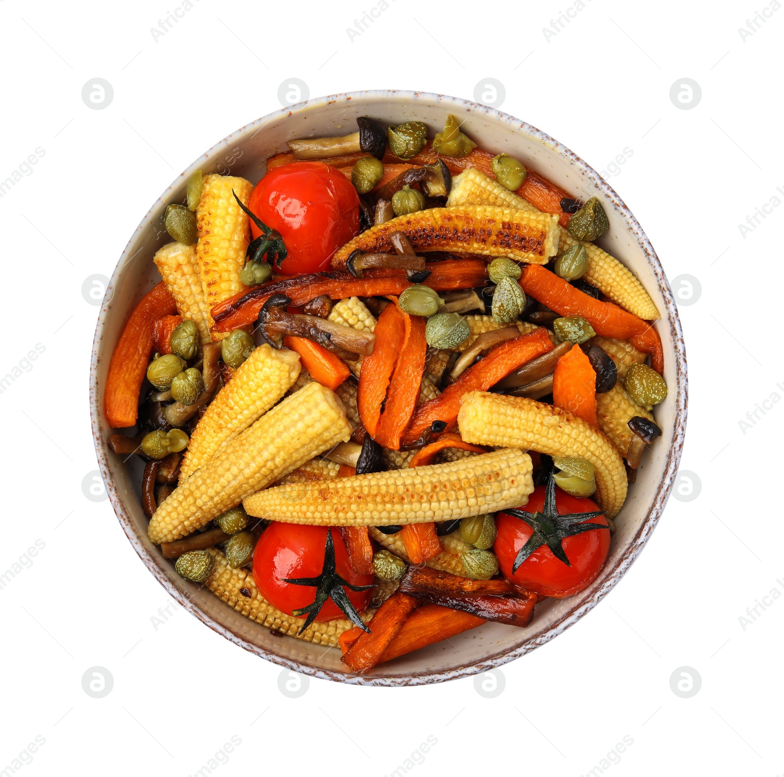
{"type": "Polygon", "coordinates": [[[572,596],[593,583],[607,559],[610,547],[607,519],[601,515],[596,504],[590,499],[561,491],[552,480],[547,486],[537,486],[528,504],[520,510],[499,513],[495,517],[495,525],[498,535],[494,550],[503,576],[544,596],[572,596]],[[550,489],[552,500],[546,499],[546,492],[550,489]],[[526,521],[510,514],[523,512],[532,515],[532,519],[526,521]],[[599,514],[581,519],[580,514],[590,513],[599,514]],[[601,528],[589,529],[588,525],[599,525],[601,528]],[[538,536],[521,554],[521,564],[513,572],[515,560],[532,538],[535,528],[538,536]],[[568,559],[568,564],[558,555],[568,559]]]}

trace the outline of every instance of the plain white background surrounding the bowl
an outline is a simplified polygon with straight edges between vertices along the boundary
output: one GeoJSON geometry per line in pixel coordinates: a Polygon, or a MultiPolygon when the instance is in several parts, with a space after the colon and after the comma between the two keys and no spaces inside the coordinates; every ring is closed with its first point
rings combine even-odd
{"type": "Polygon", "coordinates": [[[768,11],[744,41],[739,27],[767,0],[586,0],[548,40],[543,27],[572,0],[388,0],[352,40],[347,27],[378,7],[363,2],[193,0],[157,41],[151,27],[182,8],[178,0],[0,2],[0,180],[45,151],[0,199],[0,373],[36,343],[45,348],[0,394],[0,571],[36,539],[45,544],[0,590],[0,770],[39,735],[45,743],[23,775],[186,777],[234,735],[219,777],[387,775],[430,736],[415,777],[492,766],[578,777],[602,768],[626,736],[633,743],[619,762],[604,764],[612,775],[784,773],[784,601],[763,600],[784,591],[775,444],[784,407],[769,404],[745,434],[739,426],[757,403],[784,396],[784,208],[739,230],[771,198],[784,200],[784,10],[768,11]],[[104,110],[82,101],[95,78],[114,89],[104,110]],[[396,87],[466,98],[498,79],[503,111],[597,170],[633,151],[608,180],[668,277],[689,274],[702,288],[680,309],[691,389],[682,467],[702,491],[670,499],[612,594],[504,666],[492,699],[474,678],[398,690],[312,680],[300,698],[286,697],[279,667],[175,605],[108,501],[82,492],[96,470],[88,371],[99,310],[83,282],[110,276],[158,194],[216,140],[278,109],[278,87],[291,78],[311,96],[396,87]],[[702,89],[691,110],[670,100],[683,78],[702,89]],[[770,606],[744,628],[739,617],[757,600],[770,606]],[[159,608],[168,613],[156,629],[159,608]],[[82,690],[92,666],[114,678],[102,699],[82,690]],[[688,699],[670,689],[681,666],[702,678],[688,699]]]}

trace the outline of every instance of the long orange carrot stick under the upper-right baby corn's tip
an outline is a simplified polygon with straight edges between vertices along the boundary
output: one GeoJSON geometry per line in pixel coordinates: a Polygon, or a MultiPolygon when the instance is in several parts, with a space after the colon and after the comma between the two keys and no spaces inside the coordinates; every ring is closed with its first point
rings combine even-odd
{"type": "Polygon", "coordinates": [[[594,300],[592,296],[539,265],[529,264],[525,267],[520,285],[526,294],[562,316],[583,316],[597,335],[630,339],[638,350],[651,354],[653,369],[663,372],[662,341],[648,321],[610,302],[594,300]]]}

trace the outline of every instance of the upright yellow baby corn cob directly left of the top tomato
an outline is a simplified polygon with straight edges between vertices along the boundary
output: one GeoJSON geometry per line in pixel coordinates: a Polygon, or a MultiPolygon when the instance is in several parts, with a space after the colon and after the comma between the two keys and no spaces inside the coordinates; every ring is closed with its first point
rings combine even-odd
{"type": "MultiPolygon", "coordinates": [[[[204,177],[196,209],[196,257],[208,310],[245,289],[240,270],[250,242],[250,220],[231,192],[234,190],[242,204],[248,205],[252,189],[253,184],[244,178],[216,173],[204,177]]],[[[210,315],[211,332],[213,323],[210,315]]],[[[223,339],[227,334],[212,332],[212,339],[223,339]]]]}

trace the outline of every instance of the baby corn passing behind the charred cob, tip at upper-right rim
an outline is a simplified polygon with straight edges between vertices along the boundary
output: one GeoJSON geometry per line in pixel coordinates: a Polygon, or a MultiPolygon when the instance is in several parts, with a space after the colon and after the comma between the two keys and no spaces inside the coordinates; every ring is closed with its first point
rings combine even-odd
{"type": "MultiPolygon", "coordinates": [[[[449,192],[447,205],[482,204],[539,212],[530,202],[477,169],[467,169],[452,179],[452,191],[449,192]]],[[[561,230],[558,252],[563,252],[578,242],[566,230],[561,230]]],[[[583,275],[584,281],[596,286],[613,302],[640,318],[648,321],[660,318],[653,300],[630,270],[597,245],[586,242],[582,245],[588,255],[588,269],[583,275]]]]}

